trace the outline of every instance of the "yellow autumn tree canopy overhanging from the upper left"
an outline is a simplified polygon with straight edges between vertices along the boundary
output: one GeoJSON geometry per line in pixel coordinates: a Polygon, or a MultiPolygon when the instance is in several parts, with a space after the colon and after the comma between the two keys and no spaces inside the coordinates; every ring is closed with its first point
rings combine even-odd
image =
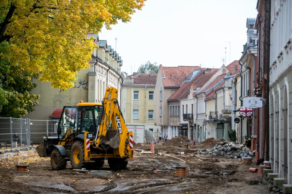
{"type": "Polygon", "coordinates": [[[89,67],[95,44],[87,33],[129,22],[144,1],[1,0],[0,46],[6,43],[0,63],[66,90],[74,86],[76,73],[89,67]]]}

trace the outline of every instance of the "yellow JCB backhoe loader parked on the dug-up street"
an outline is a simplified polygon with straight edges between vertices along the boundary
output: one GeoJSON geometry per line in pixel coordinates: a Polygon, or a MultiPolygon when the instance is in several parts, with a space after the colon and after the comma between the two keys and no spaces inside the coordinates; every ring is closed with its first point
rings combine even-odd
{"type": "Polygon", "coordinates": [[[100,168],[107,160],[112,169],[123,169],[133,159],[133,132],[125,125],[118,92],[107,87],[102,104],[81,102],[64,106],[57,137],[43,137],[36,148],[40,157],[51,157],[53,170],[100,168]]]}

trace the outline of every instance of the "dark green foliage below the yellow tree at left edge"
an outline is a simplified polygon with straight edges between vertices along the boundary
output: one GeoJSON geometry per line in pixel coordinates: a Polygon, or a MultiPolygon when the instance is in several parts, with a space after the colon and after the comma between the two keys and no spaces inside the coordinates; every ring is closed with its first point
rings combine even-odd
{"type": "MultiPolygon", "coordinates": [[[[7,46],[7,42],[2,42],[0,53],[7,52],[7,46]]],[[[32,93],[36,86],[32,79],[37,77],[0,56],[0,117],[20,118],[34,110],[39,95],[32,93]]]]}

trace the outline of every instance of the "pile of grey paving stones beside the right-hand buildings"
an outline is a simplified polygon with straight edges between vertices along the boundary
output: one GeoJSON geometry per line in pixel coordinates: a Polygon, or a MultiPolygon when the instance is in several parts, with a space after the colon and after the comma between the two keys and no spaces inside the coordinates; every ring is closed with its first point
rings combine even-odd
{"type": "Polygon", "coordinates": [[[251,152],[249,148],[244,147],[242,144],[234,144],[228,141],[217,142],[217,144],[212,147],[194,152],[194,154],[213,154],[215,156],[223,156],[227,159],[231,158],[242,158],[242,157],[253,157],[255,151],[251,152]]]}

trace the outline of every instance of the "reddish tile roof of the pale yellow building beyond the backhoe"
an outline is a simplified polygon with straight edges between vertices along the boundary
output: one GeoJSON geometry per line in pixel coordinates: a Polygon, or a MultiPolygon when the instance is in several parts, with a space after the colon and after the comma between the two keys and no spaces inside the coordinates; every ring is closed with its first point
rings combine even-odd
{"type": "Polygon", "coordinates": [[[141,86],[141,85],[154,85],[155,86],[156,77],[157,77],[157,74],[155,74],[155,76],[150,76],[148,73],[133,74],[133,75],[130,75],[128,77],[125,77],[125,79],[134,79],[134,84],[133,83],[125,83],[125,85],[139,85],[139,86],[141,86]]]}

